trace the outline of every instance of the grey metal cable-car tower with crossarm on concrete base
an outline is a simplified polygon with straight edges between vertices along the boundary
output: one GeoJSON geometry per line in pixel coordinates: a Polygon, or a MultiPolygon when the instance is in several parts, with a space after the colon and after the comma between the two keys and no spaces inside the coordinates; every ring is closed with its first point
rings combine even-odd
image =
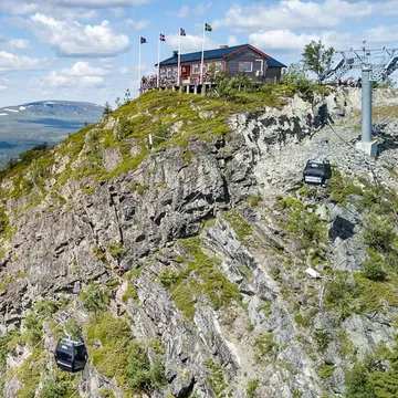
{"type": "Polygon", "coordinates": [[[384,82],[398,69],[398,49],[366,49],[336,51],[343,56],[325,73],[325,80],[338,81],[350,70],[362,71],[362,136],[357,148],[370,157],[377,156],[377,142],[371,140],[371,91],[374,82],[384,82]]]}

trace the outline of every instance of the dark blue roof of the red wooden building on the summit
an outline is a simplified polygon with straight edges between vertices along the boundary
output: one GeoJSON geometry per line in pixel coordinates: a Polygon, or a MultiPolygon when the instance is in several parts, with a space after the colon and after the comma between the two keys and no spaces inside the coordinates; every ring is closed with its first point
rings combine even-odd
{"type": "MultiPolygon", "coordinates": [[[[214,60],[214,59],[226,57],[228,55],[231,55],[233,52],[239,51],[244,48],[250,48],[251,50],[258,52],[260,55],[264,56],[266,59],[266,64],[270,67],[287,67],[283,63],[274,60],[270,55],[263,53],[262,51],[253,48],[250,44],[240,44],[240,45],[233,45],[233,46],[228,46],[228,48],[223,48],[223,49],[206,50],[205,54],[203,54],[203,59],[205,60],[214,60]]],[[[195,61],[201,61],[201,51],[197,51],[197,52],[188,53],[188,54],[181,54],[181,60],[180,60],[181,63],[195,62],[195,61]]],[[[170,56],[169,59],[167,59],[165,61],[161,61],[160,66],[168,66],[168,65],[174,65],[177,63],[178,63],[178,56],[175,55],[175,56],[170,56]]],[[[157,64],[155,66],[157,66],[157,64]]]]}

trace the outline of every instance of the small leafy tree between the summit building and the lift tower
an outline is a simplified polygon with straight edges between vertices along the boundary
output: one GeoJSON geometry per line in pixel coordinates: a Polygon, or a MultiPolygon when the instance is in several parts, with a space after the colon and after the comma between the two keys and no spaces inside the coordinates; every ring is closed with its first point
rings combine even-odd
{"type": "Polygon", "coordinates": [[[318,42],[313,40],[305,45],[302,53],[303,64],[308,71],[316,74],[318,83],[325,80],[325,73],[331,67],[334,52],[333,48],[327,49],[321,40],[318,42]]]}

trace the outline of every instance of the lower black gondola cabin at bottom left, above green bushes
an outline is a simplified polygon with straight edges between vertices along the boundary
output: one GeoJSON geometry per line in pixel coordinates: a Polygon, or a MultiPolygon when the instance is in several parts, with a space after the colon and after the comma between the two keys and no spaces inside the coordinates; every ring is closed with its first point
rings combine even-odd
{"type": "Polygon", "coordinates": [[[62,338],[55,349],[56,366],[65,371],[76,373],[87,363],[87,350],[83,342],[62,338]]]}

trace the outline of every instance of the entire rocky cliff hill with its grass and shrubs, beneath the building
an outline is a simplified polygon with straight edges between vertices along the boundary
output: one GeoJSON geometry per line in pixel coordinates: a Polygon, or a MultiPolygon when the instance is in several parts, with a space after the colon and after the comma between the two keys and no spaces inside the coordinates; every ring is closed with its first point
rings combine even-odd
{"type": "Polygon", "coordinates": [[[376,160],[356,95],[148,93],[3,172],[3,396],[396,396],[397,94],[376,160]]]}

